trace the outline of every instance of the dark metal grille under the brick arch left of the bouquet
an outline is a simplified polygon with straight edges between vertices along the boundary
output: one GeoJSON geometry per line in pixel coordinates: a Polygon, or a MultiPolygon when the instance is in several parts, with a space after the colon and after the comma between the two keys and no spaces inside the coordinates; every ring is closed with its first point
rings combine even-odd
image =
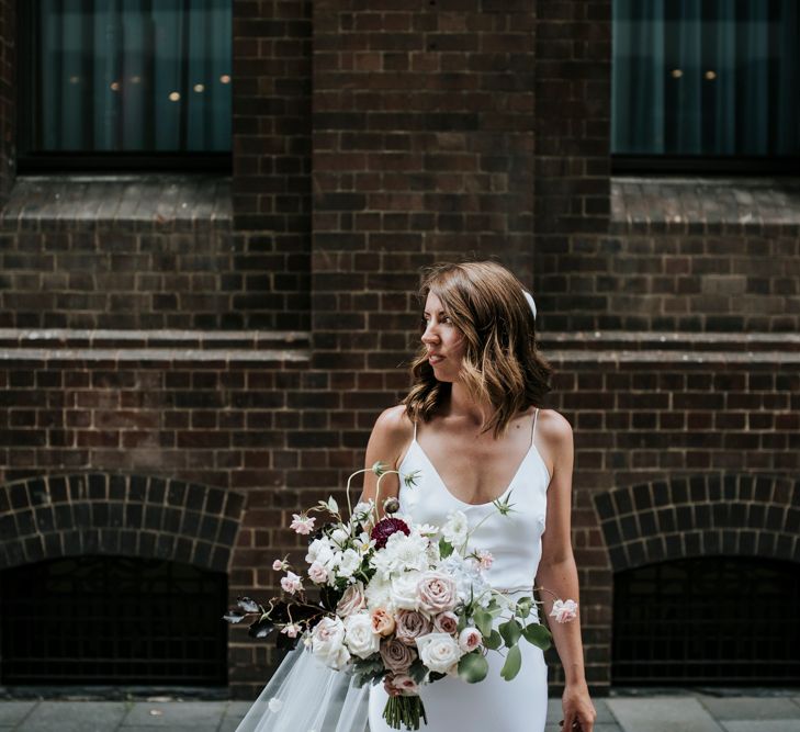
{"type": "Polygon", "coordinates": [[[0,573],[3,684],[226,683],[226,575],[83,556],[0,573]]]}

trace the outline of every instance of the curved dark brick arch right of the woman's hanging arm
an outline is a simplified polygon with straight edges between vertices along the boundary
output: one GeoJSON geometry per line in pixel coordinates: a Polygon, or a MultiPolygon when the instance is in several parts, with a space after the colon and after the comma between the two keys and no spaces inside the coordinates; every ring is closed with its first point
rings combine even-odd
{"type": "Polygon", "coordinates": [[[800,562],[800,481],[702,474],[594,497],[611,570],[709,554],[800,562]]]}

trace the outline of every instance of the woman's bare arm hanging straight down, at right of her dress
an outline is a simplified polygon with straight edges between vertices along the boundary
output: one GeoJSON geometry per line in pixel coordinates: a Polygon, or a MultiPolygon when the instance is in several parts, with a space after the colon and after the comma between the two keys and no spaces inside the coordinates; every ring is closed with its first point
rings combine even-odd
{"type": "Polygon", "coordinates": [[[564,730],[571,731],[573,722],[578,722],[584,732],[590,732],[596,712],[586,685],[581,643],[581,600],[570,520],[574,462],[572,427],[555,412],[550,413],[542,427],[553,458],[553,476],[548,487],[547,528],[542,534],[542,556],[537,572],[537,585],[554,593],[539,594],[548,618],[556,597],[578,603],[578,617],[575,620],[566,623],[549,620],[548,624],[564,667],[564,730]]]}

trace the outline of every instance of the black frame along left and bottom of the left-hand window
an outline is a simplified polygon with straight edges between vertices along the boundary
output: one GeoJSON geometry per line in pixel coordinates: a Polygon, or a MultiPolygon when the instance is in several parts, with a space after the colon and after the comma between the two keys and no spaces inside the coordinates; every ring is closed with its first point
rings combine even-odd
{"type": "MultiPolygon", "coordinates": [[[[18,4],[16,78],[38,78],[40,38],[35,32],[37,0],[25,0],[18,4]]],[[[230,150],[159,153],[151,151],[94,151],[94,153],[43,153],[34,149],[34,139],[40,128],[40,110],[35,109],[36,92],[33,83],[18,82],[16,98],[16,171],[19,173],[45,172],[224,172],[233,169],[233,135],[230,150]]],[[[233,116],[233,100],[230,114],[233,116]]]]}

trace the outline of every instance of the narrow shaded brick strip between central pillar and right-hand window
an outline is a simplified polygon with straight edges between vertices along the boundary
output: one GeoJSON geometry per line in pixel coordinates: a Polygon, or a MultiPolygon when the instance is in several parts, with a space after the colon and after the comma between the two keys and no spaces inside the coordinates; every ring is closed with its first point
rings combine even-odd
{"type": "Polygon", "coordinates": [[[610,212],[611,3],[537,7],[536,288],[545,331],[595,328],[610,212]],[[594,241],[587,241],[594,239],[594,241]]]}

